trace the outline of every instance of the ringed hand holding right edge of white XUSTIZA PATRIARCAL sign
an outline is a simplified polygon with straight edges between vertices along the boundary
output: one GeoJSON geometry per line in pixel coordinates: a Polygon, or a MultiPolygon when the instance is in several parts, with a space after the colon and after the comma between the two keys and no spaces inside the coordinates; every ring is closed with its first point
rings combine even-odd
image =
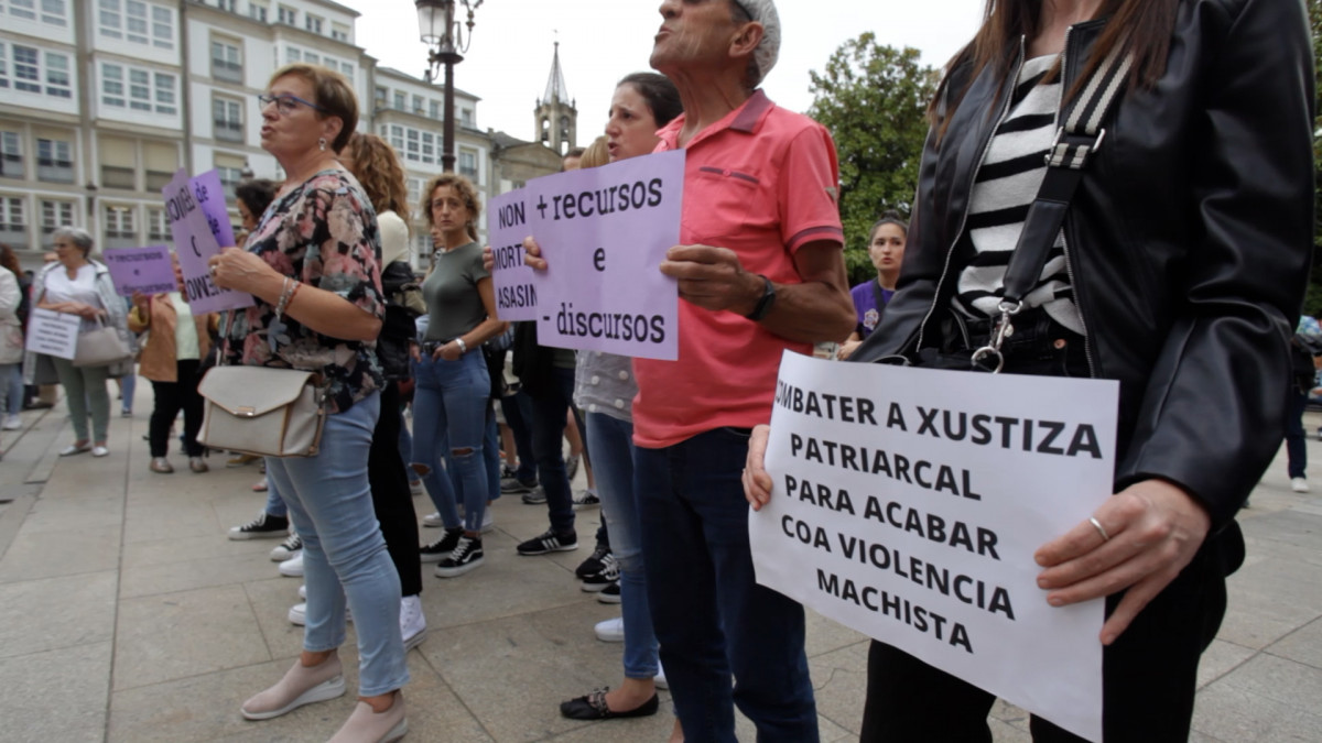
{"type": "Polygon", "coordinates": [[[1107,498],[1092,516],[1038,549],[1038,587],[1054,607],[1125,598],[1101,627],[1101,644],[1120,637],[1147,602],[1179,575],[1207,538],[1211,517],[1178,485],[1144,480],[1107,498]],[[1103,535],[1105,530],[1105,535],[1103,535]]]}

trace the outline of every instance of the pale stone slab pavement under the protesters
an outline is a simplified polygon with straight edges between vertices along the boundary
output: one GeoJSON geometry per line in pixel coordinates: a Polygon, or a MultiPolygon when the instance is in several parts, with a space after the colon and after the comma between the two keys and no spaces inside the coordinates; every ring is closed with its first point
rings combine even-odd
{"type": "MultiPolygon", "coordinates": [[[[180,472],[148,472],[145,379],[136,397],[139,414],[114,420],[106,459],[56,456],[71,439],[62,405],[24,412],[25,430],[3,435],[0,740],[325,740],[352,693],[268,722],[238,714],[301,639],[286,621],[299,582],[267,558],[276,542],[225,535],[260,510],[249,489],[258,471],[213,456],[210,473],[192,475],[176,453],[180,472]]],[[[1309,430],[1319,423],[1310,414],[1309,430]]],[[[1322,461],[1322,444],[1309,448],[1322,461]]],[[[1322,740],[1322,476],[1314,483],[1315,493],[1292,493],[1282,451],[1241,517],[1249,557],[1203,657],[1194,740],[1322,740]]],[[[539,558],[514,545],[545,529],[543,506],[502,498],[494,516],[481,568],[439,580],[424,567],[430,636],[408,656],[407,740],[665,740],[665,693],[662,714],[636,721],[584,723],[557,710],[621,676],[621,646],[592,635],[617,609],[572,578],[598,512],[579,514],[579,551],[539,558]]],[[[822,740],[857,740],[866,649],[858,633],[810,616],[822,740]]],[[[352,629],[341,657],[352,690],[352,629]]],[[[1013,706],[998,703],[990,724],[998,742],[1029,740],[1013,706]]]]}

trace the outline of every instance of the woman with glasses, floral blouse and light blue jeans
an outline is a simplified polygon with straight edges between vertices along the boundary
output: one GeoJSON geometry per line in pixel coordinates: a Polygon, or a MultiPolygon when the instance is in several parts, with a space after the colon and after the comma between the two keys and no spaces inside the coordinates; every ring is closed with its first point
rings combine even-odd
{"type": "Polygon", "coordinates": [[[308,604],[303,654],[275,686],[243,703],[268,719],[344,694],[337,648],[345,600],[358,633],[358,705],[334,743],[397,740],[408,728],[399,633],[399,574],[371,508],[368,452],[385,385],[375,353],[385,299],[371,201],[336,160],[358,123],[338,73],[290,65],[262,102],[262,147],[287,178],[243,249],[210,260],[215,284],[256,303],[221,321],[223,364],[316,370],[327,385],[317,456],[267,459],[303,538],[308,604]]]}

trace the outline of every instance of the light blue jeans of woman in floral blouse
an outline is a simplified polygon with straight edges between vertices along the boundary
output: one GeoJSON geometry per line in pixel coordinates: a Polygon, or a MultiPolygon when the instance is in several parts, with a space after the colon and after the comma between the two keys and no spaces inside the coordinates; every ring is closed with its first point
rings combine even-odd
{"type": "Polygon", "coordinates": [[[364,697],[408,682],[399,635],[399,574],[386,554],[368,485],[368,452],[379,414],[381,395],[374,393],[327,416],[317,456],[266,460],[267,477],[280,489],[303,537],[308,586],[303,648],[323,652],[344,644],[348,598],[364,697]]]}

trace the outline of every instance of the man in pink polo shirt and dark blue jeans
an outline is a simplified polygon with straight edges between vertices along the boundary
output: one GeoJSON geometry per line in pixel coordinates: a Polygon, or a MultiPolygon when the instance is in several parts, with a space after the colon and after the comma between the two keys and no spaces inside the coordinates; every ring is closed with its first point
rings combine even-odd
{"type": "Polygon", "coordinates": [[[780,46],[772,0],[665,0],[652,66],[683,115],[678,361],[635,360],[636,488],[648,596],[687,740],[734,740],[734,705],[759,740],[817,740],[804,611],[758,586],[740,472],[771,419],[784,349],[854,327],[830,135],[758,85],[780,46]],[[736,684],[731,687],[730,677],[736,684]]]}

